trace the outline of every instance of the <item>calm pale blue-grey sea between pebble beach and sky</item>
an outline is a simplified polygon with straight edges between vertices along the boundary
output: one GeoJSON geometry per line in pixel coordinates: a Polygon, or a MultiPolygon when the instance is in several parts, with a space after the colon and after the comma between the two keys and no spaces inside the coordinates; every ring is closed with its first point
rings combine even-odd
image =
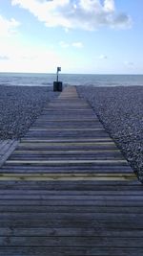
{"type": "MultiPolygon", "coordinates": [[[[0,73],[3,85],[49,86],[55,74],[0,73]]],[[[69,85],[129,86],[143,85],[143,75],[68,75],[60,74],[59,81],[69,85]]]]}

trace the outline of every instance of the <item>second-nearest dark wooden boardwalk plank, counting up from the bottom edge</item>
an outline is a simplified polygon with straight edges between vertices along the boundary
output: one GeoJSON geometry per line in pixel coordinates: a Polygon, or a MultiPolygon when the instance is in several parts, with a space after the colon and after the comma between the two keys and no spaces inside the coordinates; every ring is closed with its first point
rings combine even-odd
{"type": "Polygon", "coordinates": [[[136,247],[141,248],[143,244],[143,238],[116,238],[116,237],[10,237],[9,242],[7,237],[3,237],[0,240],[0,246],[26,246],[34,247],[37,244],[40,246],[109,246],[109,247],[136,247]],[[25,245],[24,245],[25,244],[25,245]]]}

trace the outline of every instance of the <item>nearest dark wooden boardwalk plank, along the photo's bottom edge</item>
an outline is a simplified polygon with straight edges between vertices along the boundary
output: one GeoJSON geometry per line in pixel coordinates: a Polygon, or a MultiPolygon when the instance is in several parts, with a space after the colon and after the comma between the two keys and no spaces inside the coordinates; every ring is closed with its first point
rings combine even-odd
{"type": "Polygon", "coordinates": [[[66,246],[66,247],[9,247],[9,248],[1,248],[0,252],[3,256],[142,256],[143,249],[142,248],[114,248],[114,247],[95,247],[95,246],[66,246]]]}

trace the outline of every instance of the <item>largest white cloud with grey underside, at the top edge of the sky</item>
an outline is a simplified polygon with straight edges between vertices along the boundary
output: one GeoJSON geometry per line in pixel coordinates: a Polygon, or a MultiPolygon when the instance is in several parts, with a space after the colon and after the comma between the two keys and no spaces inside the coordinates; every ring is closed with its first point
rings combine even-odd
{"type": "Polygon", "coordinates": [[[100,26],[124,29],[132,20],[126,13],[116,13],[114,0],[11,0],[31,12],[47,27],[94,30],[100,26]]]}

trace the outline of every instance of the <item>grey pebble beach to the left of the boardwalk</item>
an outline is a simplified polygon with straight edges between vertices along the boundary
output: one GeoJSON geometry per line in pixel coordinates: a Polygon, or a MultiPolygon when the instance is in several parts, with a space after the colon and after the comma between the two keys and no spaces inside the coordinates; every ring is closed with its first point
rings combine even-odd
{"type": "Polygon", "coordinates": [[[57,96],[52,86],[0,85],[0,139],[24,136],[44,105],[57,96]]]}

